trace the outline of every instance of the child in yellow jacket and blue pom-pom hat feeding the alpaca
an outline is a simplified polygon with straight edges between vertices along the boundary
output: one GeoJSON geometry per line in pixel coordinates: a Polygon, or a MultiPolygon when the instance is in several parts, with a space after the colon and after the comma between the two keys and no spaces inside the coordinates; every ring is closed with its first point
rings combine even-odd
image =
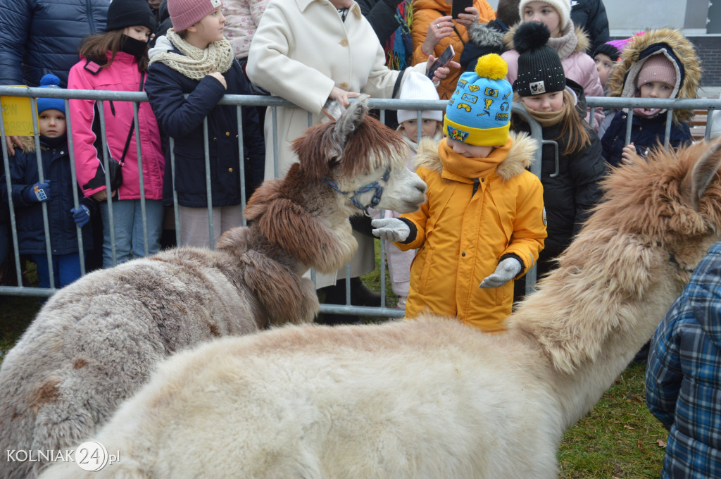
{"type": "Polygon", "coordinates": [[[428,200],[415,213],[373,220],[376,236],[401,250],[419,248],[406,317],[430,311],[482,330],[504,330],[513,279],[543,249],[543,187],[526,170],[538,144],[526,134],[509,134],[507,69],[490,54],[461,76],[443,119],[446,138],[422,142],[416,157],[428,200]]]}

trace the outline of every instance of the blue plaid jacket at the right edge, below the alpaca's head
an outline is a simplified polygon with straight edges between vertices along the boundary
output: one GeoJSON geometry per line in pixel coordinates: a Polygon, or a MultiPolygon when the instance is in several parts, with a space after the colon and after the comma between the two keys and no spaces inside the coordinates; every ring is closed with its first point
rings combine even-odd
{"type": "Polygon", "coordinates": [[[721,478],[721,242],[658,325],[646,402],[669,429],[661,478],[721,478]]]}

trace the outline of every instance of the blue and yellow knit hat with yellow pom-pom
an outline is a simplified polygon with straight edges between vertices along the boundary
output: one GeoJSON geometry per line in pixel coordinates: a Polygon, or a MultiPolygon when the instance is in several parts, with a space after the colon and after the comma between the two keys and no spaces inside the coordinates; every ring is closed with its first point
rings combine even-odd
{"type": "Polygon", "coordinates": [[[448,138],[476,146],[508,141],[513,89],[506,74],[505,60],[490,53],[478,59],[476,71],[461,75],[443,120],[448,138]]]}

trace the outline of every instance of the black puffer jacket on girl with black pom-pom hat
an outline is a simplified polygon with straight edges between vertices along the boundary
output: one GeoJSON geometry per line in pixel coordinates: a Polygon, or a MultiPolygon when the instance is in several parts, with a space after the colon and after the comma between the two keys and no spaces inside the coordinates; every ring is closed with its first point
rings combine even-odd
{"type": "MultiPolygon", "coordinates": [[[[583,87],[569,79],[566,82],[578,97],[576,109],[583,118],[586,111],[583,87]]],[[[512,128],[529,134],[531,132],[531,127],[520,115],[513,115],[512,128]]],[[[599,183],[609,170],[608,164],[601,156],[601,141],[593,129],[586,128],[590,136],[590,144],[582,151],[570,155],[564,154],[568,138],[557,139],[561,130],[561,123],[543,128],[544,140],[557,141],[559,158],[556,169],[554,146],[543,145],[541,183],[548,219],[548,237],[544,249],[539,254],[539,274],[549,271],[554,266],[551,260],[566,249],[573,235],[578,233],[583,222],[588,219],[590,208],[601,200],[599,183]]]]}

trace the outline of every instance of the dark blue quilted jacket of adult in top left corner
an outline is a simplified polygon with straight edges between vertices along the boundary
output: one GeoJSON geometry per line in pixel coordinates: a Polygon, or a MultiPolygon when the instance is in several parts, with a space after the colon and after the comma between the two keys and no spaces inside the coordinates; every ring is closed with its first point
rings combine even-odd
{"type": "Polygon", "coordinates": [[[43,75],[68,84],[78,45],[105,31],[110,0],[0,1],[0,84],[37,87],[43,75]]]}

